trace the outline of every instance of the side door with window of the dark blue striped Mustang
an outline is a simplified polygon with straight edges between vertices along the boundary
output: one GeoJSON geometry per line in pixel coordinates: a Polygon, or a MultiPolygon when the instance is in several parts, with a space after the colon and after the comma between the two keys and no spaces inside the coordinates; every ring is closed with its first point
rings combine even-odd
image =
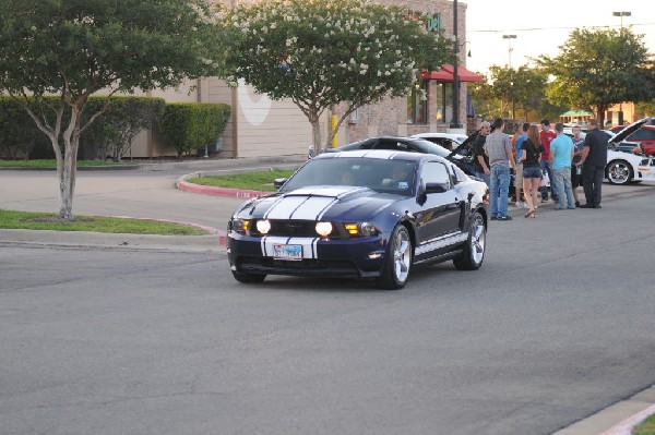
{"type": "Polygon", "coordinates": [[[460,222],[465,198],[458,197],[450,169],[442,161],[424,162],[419,177],[422,188],[427,183],[439,183],[444,188],[444,192],[428,193],[418,197],[422,204],[420,212],[416,214],[416,254],[429,257],[446,251],[462,235],[460,222]]]}

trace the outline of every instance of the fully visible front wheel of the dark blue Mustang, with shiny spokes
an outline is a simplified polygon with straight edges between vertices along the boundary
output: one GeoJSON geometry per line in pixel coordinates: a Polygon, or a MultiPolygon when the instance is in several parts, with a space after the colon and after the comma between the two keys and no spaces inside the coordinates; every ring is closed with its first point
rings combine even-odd
{"type": "Polygon", "coordinates": [[[378,278],[378,287],[385,290],[400,290],[409,279],[414,246],[409,231],[397,225],[391,233],[389,249],[382,275],[378,278]]]}

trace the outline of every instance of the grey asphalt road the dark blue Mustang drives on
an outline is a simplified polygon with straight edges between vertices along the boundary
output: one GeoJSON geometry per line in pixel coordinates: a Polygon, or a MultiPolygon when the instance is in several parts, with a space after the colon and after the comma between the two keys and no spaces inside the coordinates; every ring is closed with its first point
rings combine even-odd
{"type": "MultiPolygon", "coordinates": [[[[239,285],[222,252],[4,245],[0,433],[553,433],[655,380],[654,192],[491,222],[480,270],[401,291],[239,285]]],[[[188,218],[231,205],[191,197],[188,218]]]]}

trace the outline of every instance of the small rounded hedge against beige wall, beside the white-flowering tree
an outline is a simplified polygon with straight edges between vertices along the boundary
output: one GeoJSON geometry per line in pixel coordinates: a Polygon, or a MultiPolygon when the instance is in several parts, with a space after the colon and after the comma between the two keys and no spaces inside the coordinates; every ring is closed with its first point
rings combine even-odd
{"type": "Polygon", "coordinates": [[[230,107],[227,105],[180,102],[167,105],[162,121],[166,142],[178,157],[213,144],[225,130],[230,107]]]}

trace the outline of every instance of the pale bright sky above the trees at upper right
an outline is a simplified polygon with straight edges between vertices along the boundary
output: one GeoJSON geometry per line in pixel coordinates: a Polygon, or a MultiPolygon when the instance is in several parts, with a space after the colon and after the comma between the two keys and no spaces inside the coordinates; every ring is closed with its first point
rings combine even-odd
{"type": "MultiPolygon", "coordinates": [[[[466,3],[466,69],[486,72],[492,64],[512,68],[527,64],[528,57],[556,57],[577,27],[619,29],[621,19],[612,12],[631,12],[623,26],[645,35],[643,43],[655,53],[654,0],[458,0],[466,3]],[[503,39],[503,35],[516,35],[503,39]]],[[[462,48],[464,50],[464,47],[462,48]]]]}

